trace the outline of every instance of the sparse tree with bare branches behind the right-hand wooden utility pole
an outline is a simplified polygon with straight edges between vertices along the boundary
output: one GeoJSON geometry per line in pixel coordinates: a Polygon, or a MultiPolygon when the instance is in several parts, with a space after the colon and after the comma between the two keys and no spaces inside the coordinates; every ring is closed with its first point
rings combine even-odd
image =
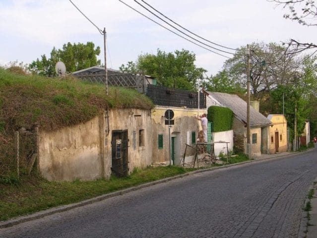
{"type": "MultiPolygon", "coordinates": [[[[254,99],[262,98],[278,84],[287,82],[288,72],[295,67],[293,55],[286,55],[283,46],[276,43],[253,43],[250,57],[250,84],[254,99]]],[[[234,85],[247,87],[246,47],[242,46],[235,56],[226,60],[224,70],[234,85]]]]}

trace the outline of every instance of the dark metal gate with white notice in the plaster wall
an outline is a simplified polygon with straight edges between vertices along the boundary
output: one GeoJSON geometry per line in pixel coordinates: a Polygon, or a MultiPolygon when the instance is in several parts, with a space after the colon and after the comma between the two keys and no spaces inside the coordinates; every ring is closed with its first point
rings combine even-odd
{"type": "Polygon", "coordinates": [[[112,131],[112,164],[111,171],[119,176],[127,176],[127,130],[112,131]]]}

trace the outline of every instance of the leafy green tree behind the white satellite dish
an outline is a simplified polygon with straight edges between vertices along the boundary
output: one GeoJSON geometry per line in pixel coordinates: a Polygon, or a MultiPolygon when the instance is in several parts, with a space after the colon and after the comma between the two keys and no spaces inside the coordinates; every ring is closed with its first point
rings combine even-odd
{"type": "Polygon", "coordinates": [[[100,54],[100,47],[96,47],[92,42],[87,44],[67,43],[63,45],[63,49],[57,50],[55,47],[51,51],[51,57],[46,55],[41,56],[41,60],[33,60],[29,65],[29,70],[33,73],[56,76],[55,64],[58,61],[63,61],[67,72],[74,72],[83,68],[100,65],[100,60],[97,56],[100,54]]]}

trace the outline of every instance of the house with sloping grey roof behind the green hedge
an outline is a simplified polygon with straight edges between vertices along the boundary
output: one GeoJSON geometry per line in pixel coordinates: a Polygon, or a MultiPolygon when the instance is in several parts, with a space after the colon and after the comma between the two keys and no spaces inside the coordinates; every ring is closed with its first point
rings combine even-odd
{"type": "MultiPolygon", "coordinates": [[[[247,152],[247,103],[239,96],[227,93],[204,91],[206,106],[220,106],[230,108],[234,115],[233,132],[236,148],[247,152]]],[[[269,153],[269,125],[271,121],[250,107],[250,142],[251,153],[259,156],[269,153]]]]}

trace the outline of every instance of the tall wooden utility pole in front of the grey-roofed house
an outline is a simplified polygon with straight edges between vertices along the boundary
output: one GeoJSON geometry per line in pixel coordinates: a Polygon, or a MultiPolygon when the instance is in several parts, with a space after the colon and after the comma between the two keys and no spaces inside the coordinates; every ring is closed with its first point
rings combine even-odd
{"type": "Polygon", "coordinates": [[[251,159],[251,143],[250,143],[250,48],[247,45],[247,152],[251,159]]]}

